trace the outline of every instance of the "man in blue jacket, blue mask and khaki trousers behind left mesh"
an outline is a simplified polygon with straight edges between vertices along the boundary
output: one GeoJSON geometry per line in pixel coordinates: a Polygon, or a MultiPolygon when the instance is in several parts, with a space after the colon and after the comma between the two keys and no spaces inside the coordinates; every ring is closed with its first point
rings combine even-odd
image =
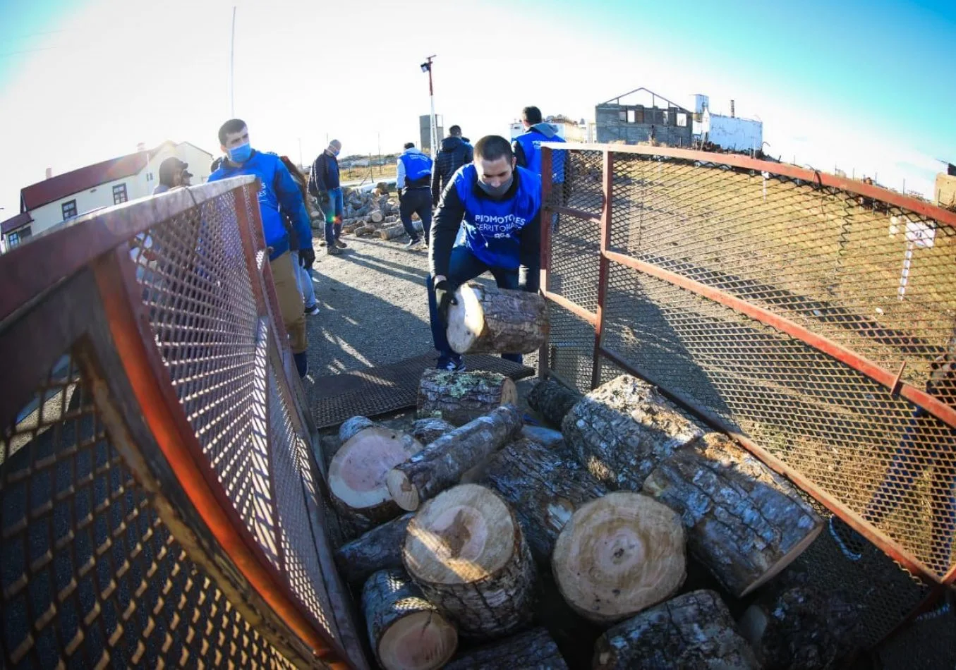
{"type": "Polygon", "coordinates": [[[289,232],[283,221],[285,214],[295,229],[300,265],[311,268],[315,263],[315,249],[312,247],[312,225],[302,192],[278,156],[252,149],[246,121],[229,119],[223,123],[219,129],[219,143],[227,158],[218,170],[209,175],[210,182],[239,175],[259,178],[259,212],[269,251],[275,296],[279,300],[279,312],[289,334],[295,368],[299,377],[305,377],[309,371],[305,307],[302,292],[295,282],[289,232]]]}

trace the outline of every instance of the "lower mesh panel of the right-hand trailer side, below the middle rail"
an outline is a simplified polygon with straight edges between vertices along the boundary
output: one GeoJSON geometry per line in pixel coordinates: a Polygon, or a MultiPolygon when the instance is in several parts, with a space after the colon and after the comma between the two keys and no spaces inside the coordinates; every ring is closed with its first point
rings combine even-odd
{"type": "MultiPolygon", "coordinates": [[[[803,342],[612,265],[603,344],[719,414],[943,575],[953,432],[803,342]]],[[[956,508],[953,508],[956,513],[956,508]]]]}

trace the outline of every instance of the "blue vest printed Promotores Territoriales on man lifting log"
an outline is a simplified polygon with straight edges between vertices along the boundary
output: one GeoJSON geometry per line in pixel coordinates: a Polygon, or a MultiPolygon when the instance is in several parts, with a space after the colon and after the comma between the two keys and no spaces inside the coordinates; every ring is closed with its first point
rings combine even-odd
{"type": "Polygon", "coordinates": [[[475,193],[478,171],[468,163],[455,173],[458,197],[465,205],[465,219],[456,245],[465,245],[489,268],[517,270],[521,243],[515,233],[525,227],[541,208],[541,180],[532,171],[516,167],[518,187],[509,200],[494,201],[475,193]]]}

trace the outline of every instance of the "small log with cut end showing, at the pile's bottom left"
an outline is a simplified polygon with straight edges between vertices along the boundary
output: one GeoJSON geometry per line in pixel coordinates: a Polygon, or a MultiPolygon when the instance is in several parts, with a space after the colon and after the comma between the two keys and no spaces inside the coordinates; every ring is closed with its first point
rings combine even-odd
{"type": "Polygon", "coordinates": [[[385,670],[440,668],[458,648],[455,626],[403,570],[369,577],[361,606],[369,642],[385,670]]]}

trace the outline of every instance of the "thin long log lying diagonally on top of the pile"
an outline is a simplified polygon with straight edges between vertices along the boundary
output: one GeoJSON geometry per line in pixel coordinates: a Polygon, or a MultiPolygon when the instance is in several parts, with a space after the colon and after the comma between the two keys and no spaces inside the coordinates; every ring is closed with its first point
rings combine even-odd
{"type": "Polygon", "coordinates": [[[467,470],[510,443],[520,431],[521,412],[514,405],[502,405],[396,465],[386,478],[388,492],[400,508],[418,509],[424,501],[454,486],[467,470]]]}

